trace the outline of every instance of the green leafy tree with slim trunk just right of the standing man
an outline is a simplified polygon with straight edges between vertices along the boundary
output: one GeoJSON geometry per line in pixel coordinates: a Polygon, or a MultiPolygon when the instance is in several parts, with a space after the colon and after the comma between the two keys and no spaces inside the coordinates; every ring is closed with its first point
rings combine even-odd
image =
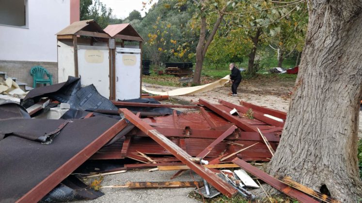
{"type": "Polygon", "coordinates": [[[295,15],[298,10],[301,10],[303,2],[303,0],[290,2],[254,0],[241,4],[236,7],[237,12],[230,14],[230,24],[238,30],[239,36],[246,39],[246,41],[241,41],[240,45],[249,50],[248,74],[255,74],[258,71],[259,64],[255,63],[258,47],[262,43],[267,43],[267,40],[277,41],[276,38],[281,35],[281,26],[285,27],[285,21],[290,19],[291,15],[295,15]]]}

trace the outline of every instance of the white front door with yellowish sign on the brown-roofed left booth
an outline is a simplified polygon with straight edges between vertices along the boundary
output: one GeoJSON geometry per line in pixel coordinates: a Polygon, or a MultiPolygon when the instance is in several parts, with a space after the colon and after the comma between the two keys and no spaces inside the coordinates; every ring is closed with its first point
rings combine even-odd
{"type": "Polygon", "coordinates": [[[110,61],[108,47],[80,46],[78,74],[82,86],[94,85],[100,95],[110,98],[110,61]],[[93,49],[86,49],[93,48],[93,49]],[[103,50],[102,50],[103,49],[103,50]]]}

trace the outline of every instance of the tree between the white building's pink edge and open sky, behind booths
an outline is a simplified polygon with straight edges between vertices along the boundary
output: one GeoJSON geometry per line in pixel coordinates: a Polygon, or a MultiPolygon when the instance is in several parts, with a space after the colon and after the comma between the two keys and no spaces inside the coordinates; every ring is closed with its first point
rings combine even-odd
{"type": "Polygon", "coordinates": [[[80,0],[80,20],[94,19],[104,29],[109,25],[112,9],[99,0],[80,0]]]}

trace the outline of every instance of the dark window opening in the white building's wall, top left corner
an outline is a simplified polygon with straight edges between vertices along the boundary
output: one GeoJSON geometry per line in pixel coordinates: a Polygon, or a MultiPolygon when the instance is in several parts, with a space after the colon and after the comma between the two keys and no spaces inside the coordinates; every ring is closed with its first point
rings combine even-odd
{"type": "Polygon", "coordinates": [[[27,27],[28,0],[0,0],[0,24],[27,27]]]}

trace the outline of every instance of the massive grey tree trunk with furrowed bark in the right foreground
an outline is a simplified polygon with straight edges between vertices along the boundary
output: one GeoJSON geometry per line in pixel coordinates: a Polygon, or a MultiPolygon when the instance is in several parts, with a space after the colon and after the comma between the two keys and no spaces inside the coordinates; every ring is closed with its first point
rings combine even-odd
{"type": "Polygon", "coordinates": [[[299,74],[269,173],[357,202],[362,1],[310,0],[308,7],[299,74]]]}

